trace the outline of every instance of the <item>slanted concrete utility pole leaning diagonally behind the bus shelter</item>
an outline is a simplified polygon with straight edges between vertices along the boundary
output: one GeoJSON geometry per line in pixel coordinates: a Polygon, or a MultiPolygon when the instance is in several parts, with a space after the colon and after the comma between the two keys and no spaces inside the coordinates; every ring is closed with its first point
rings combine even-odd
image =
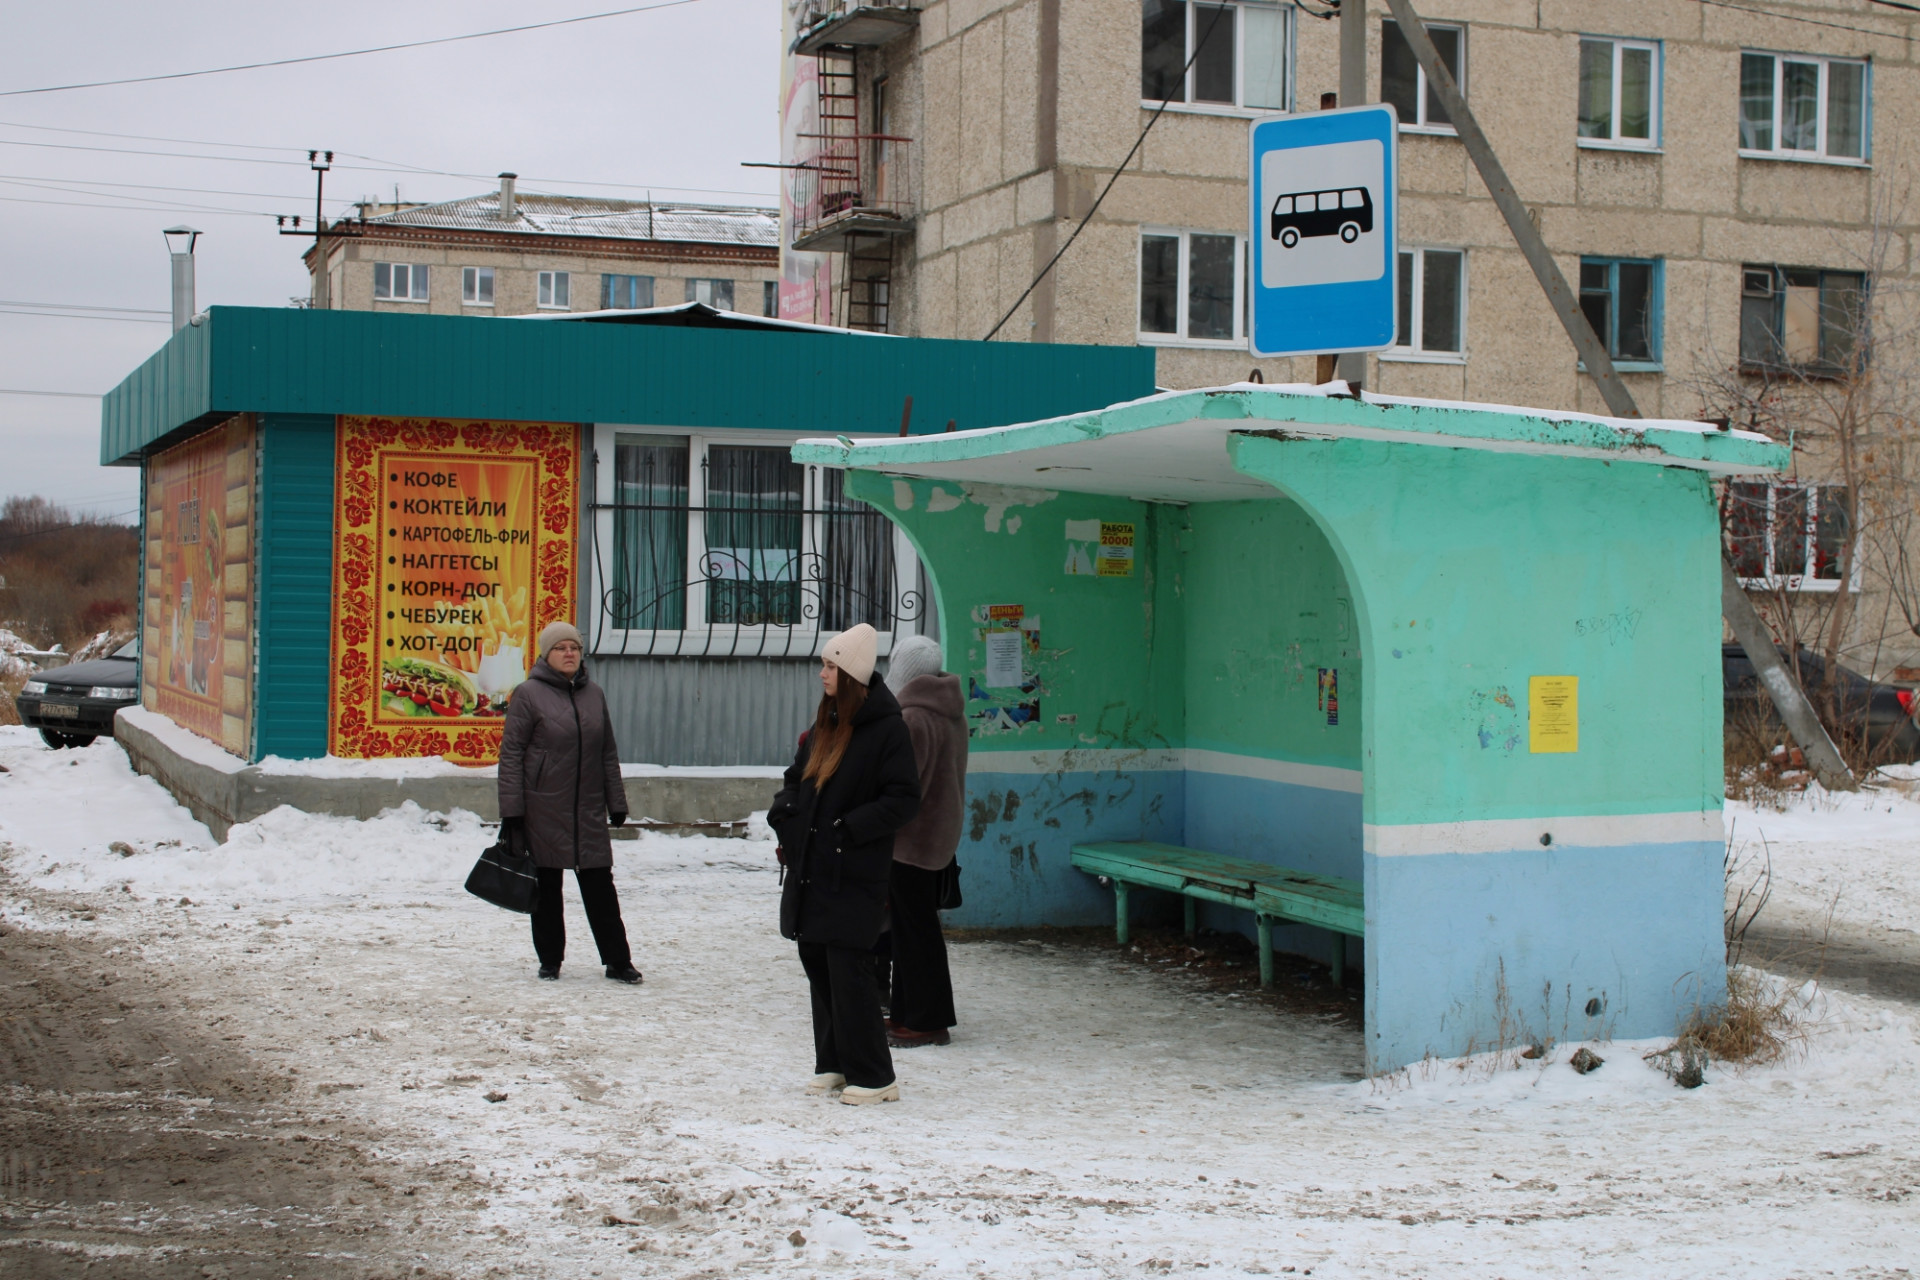
{"type": "MultiPolygon", "coordinates": [[[[1342,0],[1340,4],[1340,98],[1348,94],[1348,6],[1354,8],[1354,17],[1365,13],[1363,0],[1342,0]]],[[[1486,192],[1494,198],[1494,205],[1500,209],[1501,217],[1507,219],[1507,230],[1513,232],[1513,240],[1521,246],[1521,255],[1526,257],[1526,265],[1534,269],[1534,278],[1548,296],[1548,303],[1559,317],[1561,328],[1567,330],[1567,338],[1572,340],[1574,351],[1580,353],[1580,361],[1586,365],[1586,372],[1592,374],[1594,384],[1599,388],[1601,399],[1607,401],[1607,409],[1613,411],[1617,418],[1638,418],[1640,407],[1634,403],[1632,391],[1626,390],[1626,382],[1620,380],[1619,370],[1613,367],[1613,359],[1607,355],[1605,344],[1588,324],[1586,313],[1580,311],[1580,296],[1567,284],[1567,276],[1561,274],[1559,265],[1548,251],[1546,240],[1540,236],[1540,228],[1534,226],[1532,217],[1526,213],[1526,205],[1521,203],[1519,192],[1513,190],[1513,182],[1507,178],[1507,171],[1500,165],[1500,157],[1494,154],[1494,146],[1486,140],[1480,130],[1480,121],[1475,119],[1473,109],[1467,106],[1467,98],[1459,92],[1459,84],[1453,83],[1453,75],[1440,61],[1440,50],[1434,48],[1432,36],[1427,35],[1427,23],[1421,15],[1413,12],[1413,0],[1386,0],[1386,8],[1394,12],[1394,21],[1400,23],[1400,35],[1405,36],[1407,46],[1413,50],[1415,61],[1421,63],[1421,71],[1427,73],[1427,83],[1440,98],[1440,106],[1446,107],[1448,119],[1453,121],[1453,130],[1459,134],[1461,144],[1467,148],[1467,155],[1473,157],[1475,167],[1480,171],[1480,180],[1486,182],[1486,192]]],[[[1357,27],[1359,23],[1356,23],[1357,27]]],[[[1365,36],[1359,36],[1365,40],[1365,36]]],[[[1365,44],[1361,44],[1365,50],[1365,44]]],[[[1346,376],[1346,359],[1342,361],[1342,376],[1346,376]]],[[[1774,708],[1780,712],[1780,720],[1786,722],[1788,733],[1793,741],[1801,745],[1807,754],[1807,764],[1812,766],[1814,777],[1820,779],[1824,787],[1834,789],[1853,789],[1859,783],[1847,762],[1839,756],[1839,748],[1834,747],[1834,739],[1826,735],[1826,727],[1814,714],[1812,704],[1807,700],[1807,693],[1793,683],[1791,672],[1780,660],[1780,651],[1774,649],[1774,637],[1761,620],[1761,614],[1753,608],[1753,601],[1747,599],[1745,589],[1740,585],[1740,576],[1734,574],[1734,566],[1720,557],[1720,612],[1726,616],[1728,626],[1734,628],[1734,639],[1740,647],[1747,651],[1747,658],[1753,668],[1761,674],[1761,683],[1766,685],[1766,693],[1774,700],[1774,708]]]]}

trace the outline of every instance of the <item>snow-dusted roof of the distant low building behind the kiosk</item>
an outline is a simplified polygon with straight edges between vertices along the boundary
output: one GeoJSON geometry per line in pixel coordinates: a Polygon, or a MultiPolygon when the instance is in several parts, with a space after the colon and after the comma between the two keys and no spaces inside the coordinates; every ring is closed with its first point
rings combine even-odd
{"type": "Polygon", "coordinates": [[[380,213],[367,219],[367,225],[780,248],[780,213],[776,209],[607,200],[601,196],[541,196],[538,192],[520,192],[515,198],[511,221],[499,217],[499,192],[493,190],[380,213]]]}

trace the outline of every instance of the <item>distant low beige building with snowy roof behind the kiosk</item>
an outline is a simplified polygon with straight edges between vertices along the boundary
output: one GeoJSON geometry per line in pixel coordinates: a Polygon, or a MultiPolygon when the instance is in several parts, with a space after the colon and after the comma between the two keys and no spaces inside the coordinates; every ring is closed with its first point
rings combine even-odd
{"type": "Polygon", "coordinates": [[[440,203],[359,205],[307,249],[311,305],[415,315],[672,307],[774,315],[774,209],[543,196],[499,188],[440,203]]]}

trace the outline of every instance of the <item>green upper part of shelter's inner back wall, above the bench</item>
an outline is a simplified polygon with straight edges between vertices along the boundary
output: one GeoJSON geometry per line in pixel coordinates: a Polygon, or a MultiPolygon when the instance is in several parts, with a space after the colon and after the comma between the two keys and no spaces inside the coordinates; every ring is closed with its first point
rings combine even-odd
{"type": "Polygon", "coordinates": [[[1187,747],[1359,768],[1361,645],[1352,591],[1298,503],[1187,509],[1187,747]],[[1338,725],[1319,670],[1338,672],[1338,725]]]}

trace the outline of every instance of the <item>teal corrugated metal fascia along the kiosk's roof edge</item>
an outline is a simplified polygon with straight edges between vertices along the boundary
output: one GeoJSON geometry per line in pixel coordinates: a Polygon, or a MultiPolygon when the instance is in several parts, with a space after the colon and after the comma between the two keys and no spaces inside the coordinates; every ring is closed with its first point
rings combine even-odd
{"type": "Polygon", "coordinates": [[[100,461],[209,413],[914,434],[1150,395],[1148,347],[213,307],[102,405],[100,461]]]}

